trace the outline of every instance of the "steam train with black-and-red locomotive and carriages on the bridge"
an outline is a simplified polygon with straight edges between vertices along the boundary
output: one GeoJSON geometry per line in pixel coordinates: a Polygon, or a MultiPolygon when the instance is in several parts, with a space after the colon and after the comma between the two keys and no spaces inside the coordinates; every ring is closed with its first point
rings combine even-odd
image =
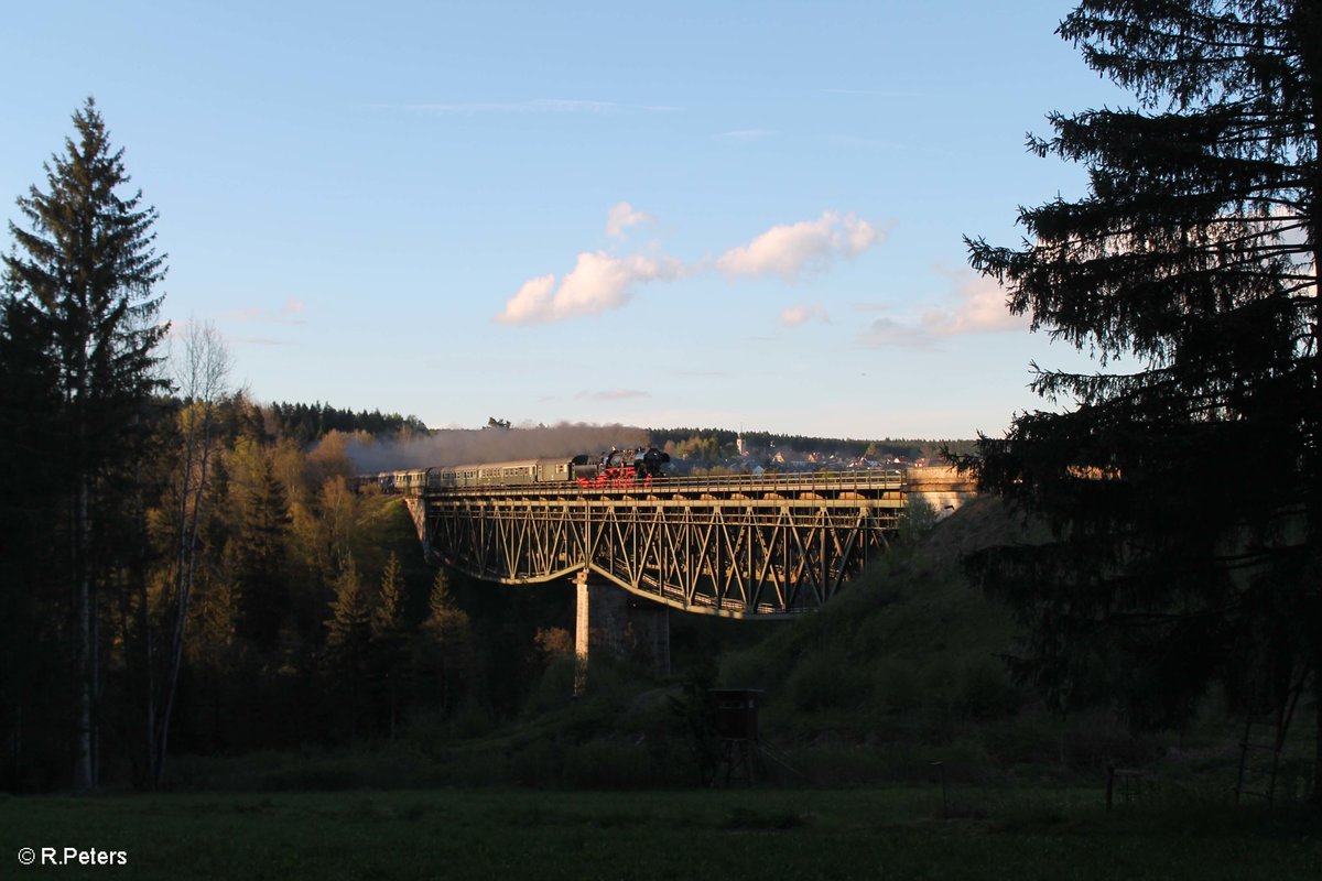
{"type": "Polygon", "coordinates": [[[456,489],[465,486],[516,486],[575,481],[579,486],[632,487],[646,486],[665,477],[664,465],[670,454],[658,449],[612,449],[574,458],[527,458],[518,462],[486,465],[444,465],[408,472],[362,474],[360,483],[377,483],[386,493],[416,493],[423,489],[456,489]]]}

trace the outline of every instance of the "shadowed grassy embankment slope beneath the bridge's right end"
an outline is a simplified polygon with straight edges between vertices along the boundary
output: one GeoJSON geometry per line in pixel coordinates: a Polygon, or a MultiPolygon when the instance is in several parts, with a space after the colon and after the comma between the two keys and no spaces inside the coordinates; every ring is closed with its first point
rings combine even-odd
{"type": "Polygon", "coordinates": [[[1018,696],[998,654],[1010,649],[1010,613],[973,588],[960,557],[1022,536],[992,499],[977,499],[892,553],[812,617],[728,655],[726,686],[767,691],[771,733],[826,730],[874,736],[898,719],[943,712],[988,717],[1018,696]]]}

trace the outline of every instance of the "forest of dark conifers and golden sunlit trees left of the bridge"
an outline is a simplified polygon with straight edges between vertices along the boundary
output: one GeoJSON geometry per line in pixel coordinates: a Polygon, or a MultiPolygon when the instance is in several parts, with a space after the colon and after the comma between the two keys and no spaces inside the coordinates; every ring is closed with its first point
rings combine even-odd
{"type": "Polygon", "coordinates": [[[93,100],[73,128],[5,258],[0,789],[509,712],[550,650],[479,638],[399,501],[353,486],[350,439],[426,428],[234,392],[212,328],[159,321],[156,214],[93,100]]]}

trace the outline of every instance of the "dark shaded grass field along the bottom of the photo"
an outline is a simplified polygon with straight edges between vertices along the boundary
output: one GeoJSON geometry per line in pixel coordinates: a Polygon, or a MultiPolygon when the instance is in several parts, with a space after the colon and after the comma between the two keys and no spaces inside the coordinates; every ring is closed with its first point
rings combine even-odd
{"type": "Polygon", "coordinates": [[[949,808],[933,787],[0,796],[0,878],[1322,878],[1315,814],[956,795],[949,808]],[[20,865],[21,848],[38,865],[20,865]],[[127,865],[42,866],[42,848],[123,851],[127,865]]]}

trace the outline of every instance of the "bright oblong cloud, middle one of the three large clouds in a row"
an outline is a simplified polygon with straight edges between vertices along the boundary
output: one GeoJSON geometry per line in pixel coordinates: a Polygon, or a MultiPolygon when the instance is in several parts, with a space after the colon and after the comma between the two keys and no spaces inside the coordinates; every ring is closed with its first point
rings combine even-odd
{"type": "Polygon", "coordinates": [[[717,259],[726,275],[779,275],[795,281],[805,271],[825,271],[837,258],[855,258],[883,239],[867,221],[825,211],[816,221],[773,226],[748,244],[717,259]]]}

